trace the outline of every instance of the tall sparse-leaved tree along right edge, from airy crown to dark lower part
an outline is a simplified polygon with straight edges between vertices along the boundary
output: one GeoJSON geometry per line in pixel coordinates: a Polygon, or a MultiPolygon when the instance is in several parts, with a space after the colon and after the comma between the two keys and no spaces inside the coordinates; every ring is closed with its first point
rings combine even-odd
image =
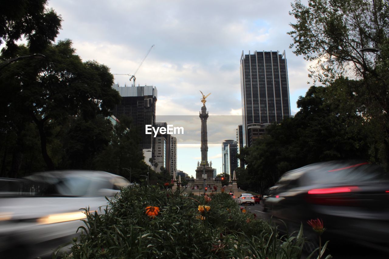
{"type": "Polygon", "coordinates": [[[329,86],[336,79],[353,82],[355,108],[370,129],[370,159],[389,169],[389,2],[387,0],[299,0],[290,12],[297,55],[317,61],[310,76],[329,86]],[[374,47],[376,53],[361,49],[374,47]]]}

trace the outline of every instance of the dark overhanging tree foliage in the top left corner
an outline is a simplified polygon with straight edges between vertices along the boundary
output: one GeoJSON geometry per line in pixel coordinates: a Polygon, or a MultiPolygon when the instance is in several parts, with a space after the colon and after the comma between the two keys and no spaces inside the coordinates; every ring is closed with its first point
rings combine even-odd
{"type": "Polygon", "coordinates": [[[61,17],[53,9],[46,9],[47,0],[1,1],[0,44],[2,54],[12,56],[16,41],[25,37],[32,53],[44,50],[56,38],[61,28],[61,17]]]}

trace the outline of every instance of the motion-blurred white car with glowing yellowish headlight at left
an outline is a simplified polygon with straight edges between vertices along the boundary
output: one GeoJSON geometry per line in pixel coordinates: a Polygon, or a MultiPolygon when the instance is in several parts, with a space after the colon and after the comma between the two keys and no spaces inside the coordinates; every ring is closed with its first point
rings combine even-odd
{"type": "Polygon", "coordinates": [[[104,212],[105,196],[114,196],[130,184],[121,176],[101,171],[42,172],[25,179],[30,181],[30,196],[0,198],[2,258],[50,256],[79,235],[78,227],[85,226],[81,208],[104,212]]]}

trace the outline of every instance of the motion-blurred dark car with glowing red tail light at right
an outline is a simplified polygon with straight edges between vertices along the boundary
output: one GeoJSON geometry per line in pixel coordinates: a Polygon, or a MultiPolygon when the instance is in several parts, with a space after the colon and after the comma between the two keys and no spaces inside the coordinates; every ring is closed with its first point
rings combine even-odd
{"type": "Polygon", "coordinates": [[[330,161],[286,172],[270,188],[264,208],[296,230],[310,219],[324,222],[325,238],[389,245],[389,181],[377,165],[330,161]]]}

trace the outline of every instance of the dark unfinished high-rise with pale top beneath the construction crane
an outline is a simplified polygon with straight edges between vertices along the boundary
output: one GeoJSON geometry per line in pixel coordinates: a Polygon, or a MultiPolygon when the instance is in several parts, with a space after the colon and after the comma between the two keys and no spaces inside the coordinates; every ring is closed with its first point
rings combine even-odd
{"type": "Polygon", "coordinates": [[[112,111],[113,115],[120,117],[127,115],[132,119],[132,125],[137,129],[140,137],[140,149],[144,151],[145,162],[154,159],[154,136],[145,134],[145,125],[155,124],[155,107],[157,102],[157,88],[155,86],[119,87],[114,84],[112,88],[117,90],[122,97],[119,105],[112,111]]]}

